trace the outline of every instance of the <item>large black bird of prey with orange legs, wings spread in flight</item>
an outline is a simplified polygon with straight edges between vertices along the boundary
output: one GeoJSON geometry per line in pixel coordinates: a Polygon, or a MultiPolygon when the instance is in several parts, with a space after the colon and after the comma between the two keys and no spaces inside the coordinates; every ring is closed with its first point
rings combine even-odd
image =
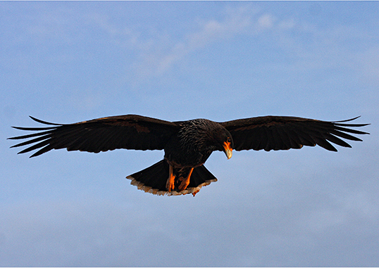
{"type": "Polygon", "coordinates": [[[223,151],[228,159],[233,150],[278,151],[318,145],[337,151],[331,143],[351,147],[342,139],[362,141],[352,134],[369,134],[351,127],[370,125],[347,123],[358,117],[332,122],[273,115],[227,122],[169,122],[142,115],[117,115],[73,124],[30,118],[47,127],[13,127],[34,133],[8,138],[27,139],[11,148],[30,146],[19,153],[37,150],[30,158],[61,148],[92,153],[120,148],[163,150],[163,159],[127,177],[139,190],[159,196],[195,196],[202,186],[217,181],[204,166],[213,151],[223,151]]]}

